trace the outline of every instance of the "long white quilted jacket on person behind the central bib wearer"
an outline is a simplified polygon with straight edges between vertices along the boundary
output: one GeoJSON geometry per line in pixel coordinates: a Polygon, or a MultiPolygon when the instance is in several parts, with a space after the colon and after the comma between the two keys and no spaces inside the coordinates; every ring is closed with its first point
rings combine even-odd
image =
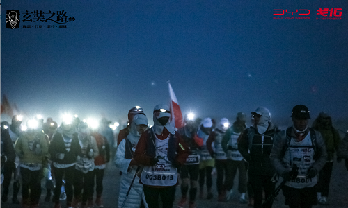
{"type": "MultiPolygon", "coordinates": [[[[125,200],[125,196],[130,187],[130,184],[132,183],[137,168],[137,166],[132,166],[130,171],[128,171],[128,166],[131,162],[131,159],[125,159],[125,144],[126,140],[123,139],[118,145],[115,155],[116,167],[122,172],[120,179],[120,196],[118,196],[119,208],[122,207],[123,201],[125,200]]],[[[129,195],[125,202],[124,208],[139,208],[141,205],[141,200],[143,200],[145,207],[148,208],[148,204],[146,203],[143,193],[143,184],[139,184],[139,177],[136,176],[132,185],[132,189],[131,191],[129,191],[129,195]]]]}

